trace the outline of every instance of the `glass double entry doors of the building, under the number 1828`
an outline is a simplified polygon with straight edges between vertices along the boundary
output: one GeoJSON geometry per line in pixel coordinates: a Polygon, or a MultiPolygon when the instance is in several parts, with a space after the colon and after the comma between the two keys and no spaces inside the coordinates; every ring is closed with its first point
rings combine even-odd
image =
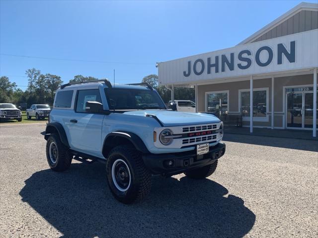
{"type": "Polygon", "coordinates": [[[313,128],[314,93],[310,90],[312,88],[303,92],[298,88],[286,90],[287,128],[313,128]]]}

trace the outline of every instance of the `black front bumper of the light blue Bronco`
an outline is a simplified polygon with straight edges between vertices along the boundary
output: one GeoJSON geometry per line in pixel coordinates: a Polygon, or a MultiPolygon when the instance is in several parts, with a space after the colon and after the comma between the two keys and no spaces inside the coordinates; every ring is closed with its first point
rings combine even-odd
{"type": "Polygon", "coordinates": [[[211,165],[224,155],[225,150],[225,144],[218,143],[210,146],[209,153],[204,155],[197,155],[196,150],[171,154],[145,154],[143,161],[153,175],[171,176],[211,165]]]}

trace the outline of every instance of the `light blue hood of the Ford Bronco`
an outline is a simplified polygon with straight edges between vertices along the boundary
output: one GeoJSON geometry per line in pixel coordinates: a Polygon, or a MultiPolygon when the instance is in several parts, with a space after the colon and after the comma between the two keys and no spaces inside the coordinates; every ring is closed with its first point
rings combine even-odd
{"type": "Polygon", "coordinates": [[[194,125],[220,122],[214,115],[205,113],[183,113],[168,110],[139,110],[124,114],[146,117],[147,114],[155,115],[164,126],[194,125]]]}

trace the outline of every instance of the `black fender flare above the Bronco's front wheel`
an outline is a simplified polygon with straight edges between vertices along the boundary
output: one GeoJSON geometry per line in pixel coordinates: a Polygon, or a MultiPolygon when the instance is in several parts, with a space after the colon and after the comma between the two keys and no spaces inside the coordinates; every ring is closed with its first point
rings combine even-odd
{"type": "Polygon", "coordinates": [[[122,137],[122,138],[129,140],[135,146],[135,148],[138,151],[142,152],[143,154],[150,153],[149,150],[147,149],[144,141],[135,133],[128,132],[128,131],[114,131],[114,132],[109,133],[104,139],[103,149],[105,148],[105,146],[107,146],[107,141],[112,140],[112,138],[114,138],[114,137],[122,137]]]}

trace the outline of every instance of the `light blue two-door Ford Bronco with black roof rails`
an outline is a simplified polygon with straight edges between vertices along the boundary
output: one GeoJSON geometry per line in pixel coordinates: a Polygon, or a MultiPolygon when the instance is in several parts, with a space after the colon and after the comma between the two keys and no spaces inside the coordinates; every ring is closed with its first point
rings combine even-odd
{"type": "Polygon", "coordinates": [[[152,175],[209,177],[226,149],[220,119],[168,110],[146,83],[64,84],[42,134],[52,170],[69,169],[72,159],[105,162],[109,188],[123,203],[143,199],[152,175]]]}

